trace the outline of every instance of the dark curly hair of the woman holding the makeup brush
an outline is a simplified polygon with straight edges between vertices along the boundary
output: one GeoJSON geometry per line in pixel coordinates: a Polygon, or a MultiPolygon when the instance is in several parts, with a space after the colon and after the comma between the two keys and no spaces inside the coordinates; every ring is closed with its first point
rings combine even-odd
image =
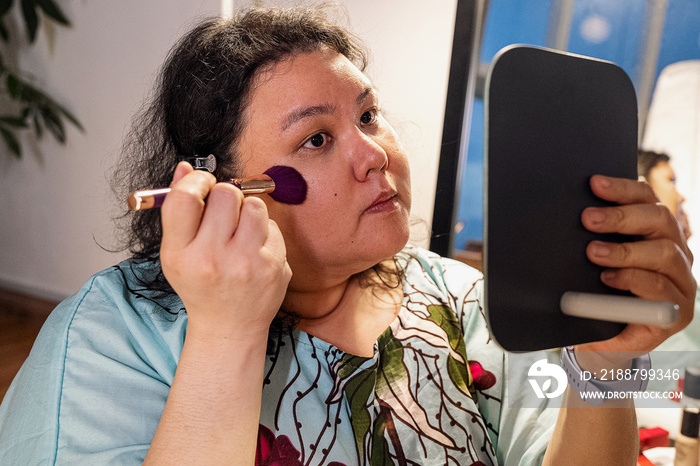
{"type": "MultiPolygon", "coordinates": [[[[360,70],[367,53],[347,29],[331,21],[329,8],[260,8],[231,19],[202,21],[173,47],[156,87],[135,117],[113,177],[122,202],[137,189],[167,186],[183,157],[213,154],[215,176],[239,175],[237,141],[256,76],[289,56],[334,50],[360,70]]],[[[337,11],[337,10],[336,10],[337,11]]],[[[117,219],[118,250],[160,270],[160,212],[126,212],[117,219]]],[[[162,271],[144,280],[154,291],[173,293],[162,271]]]]}

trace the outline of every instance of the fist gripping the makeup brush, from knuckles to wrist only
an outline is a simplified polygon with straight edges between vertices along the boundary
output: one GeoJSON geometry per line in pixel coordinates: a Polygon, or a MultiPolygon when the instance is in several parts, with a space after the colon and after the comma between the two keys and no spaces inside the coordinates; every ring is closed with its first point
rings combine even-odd
{"type": "Polygon", "coordinates": [[[291,270],[265,203],[181,163],[161,217],[163,272],[185,305],[188,333],[266,340],[291,270]]]}

